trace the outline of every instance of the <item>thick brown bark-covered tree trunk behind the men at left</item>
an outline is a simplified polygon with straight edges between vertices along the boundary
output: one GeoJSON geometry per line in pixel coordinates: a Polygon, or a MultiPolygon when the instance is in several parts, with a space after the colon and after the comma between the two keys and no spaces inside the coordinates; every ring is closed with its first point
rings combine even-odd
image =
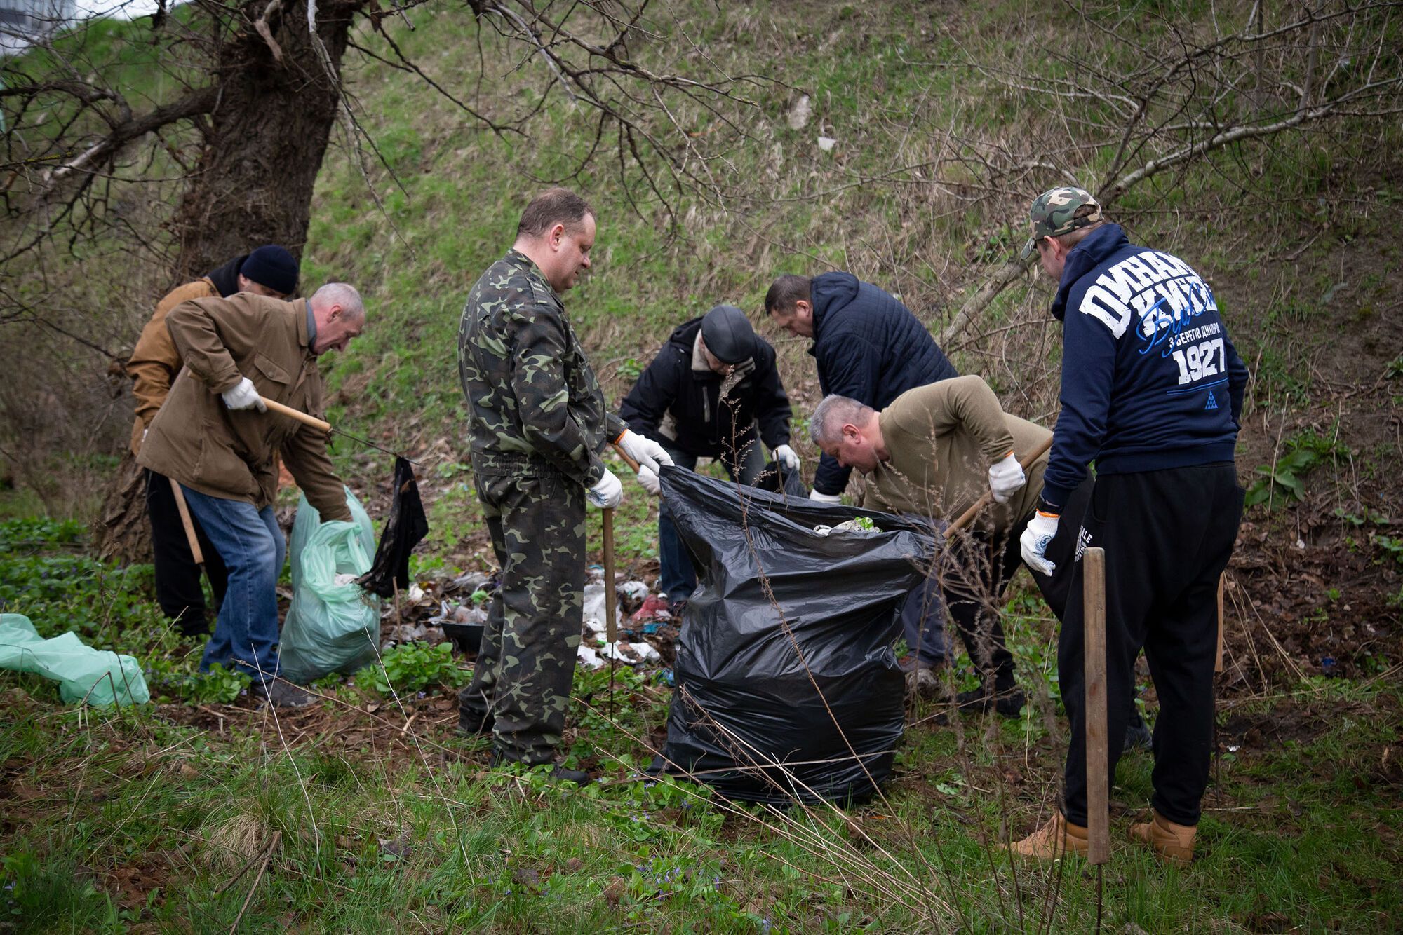
{"type": "MultiPolygon", "coordinates": [[[[276,13],[275,4],[269,6],[276,13]]],[[[269,17],[272,42],[251,25],[254,14],[267,8],[261,3],[246,6],[246,15],[231,24],[234,35],[220,43],[215,70],[224,76],[219,104],[174,219],[178,282],[203,276],[260,244],[281,244],[300,258],[313,186],[341,107],[340,81],[328,70],[340,71],[358,6],[318,8],[324,60],[311,42],[306,7],[269,17]]],[[[303,292],[310,286],[303,283],[303,292]]],[[[130,453],[107,491],[94,544],[105,559],[150,558],[142,470],[130,453]]]]}

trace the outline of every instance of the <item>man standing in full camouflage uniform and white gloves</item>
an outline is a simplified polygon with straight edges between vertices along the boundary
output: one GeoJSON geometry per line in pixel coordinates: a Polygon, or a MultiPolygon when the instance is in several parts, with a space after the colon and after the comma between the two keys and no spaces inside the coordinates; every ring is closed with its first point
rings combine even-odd
{"type": "MultiPolygon", "coordinates": [[[[561,743],[584,622],[585,499],[613,507],[623,495],[605,444],[652,470],[672,464],[606,409],[560,301],[593,241],[582,198],[539,195],[512,250],[469,293],[457,332],[473,475],[502,569],[459,730],[491,733],[497,763],[551,763],[561,743]]],[[[554,775],[589,779],[560,765],[554,775]]]]}

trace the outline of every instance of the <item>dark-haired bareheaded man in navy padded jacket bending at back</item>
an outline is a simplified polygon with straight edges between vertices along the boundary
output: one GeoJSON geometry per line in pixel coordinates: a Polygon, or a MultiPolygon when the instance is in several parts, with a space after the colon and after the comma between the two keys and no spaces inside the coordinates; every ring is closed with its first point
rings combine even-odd
{"type": "MultiPolygon", "coordinates": [[[[814,339],[808,352],[818,364],[818,388],[824,395],[842,395],[881,409],[906,390],[960,376],[906,306],[852,273],[780,276],[765,293],[765,311],[791,335],[814,339]]],[[[814,472],[810,496],[836,503],[850,474],[825,454],[814,472]]],[[[930,582],[913,589],[901,613],[911,646],[908,688],[922,694],[934,692],[934,670],[946,662],[937,590],[930,582]]]]}

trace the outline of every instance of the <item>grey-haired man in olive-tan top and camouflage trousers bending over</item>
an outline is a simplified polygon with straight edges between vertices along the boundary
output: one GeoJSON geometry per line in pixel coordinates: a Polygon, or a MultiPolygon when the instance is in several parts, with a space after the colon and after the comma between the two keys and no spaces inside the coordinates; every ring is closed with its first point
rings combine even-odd
{"type": "MultiPolygon", "coordinates": [[[[995,502],[968,535],[950,540],[932,573],[982,676],[979,688],[958,695],[960,707],[1017,716],[1024,697],[995,601],[1021,564],[1019,535],[1037,509],[1047,468],[1045,453],[1027,475],[1019,458],[1052,433],[1003,412],[982,378],[954,377],[908,390],[881,412],[846,397],[825,397],[810,435],[839,464],[866,475],[864,503],[877,509],[948,521],[992,489],[995,502]]],[[[1054,548],[1069,554],[1072,547],[1066,541],[1054,548]]],[[[1061,617],[1069,582],[1030,572],[1061,617]]]]}

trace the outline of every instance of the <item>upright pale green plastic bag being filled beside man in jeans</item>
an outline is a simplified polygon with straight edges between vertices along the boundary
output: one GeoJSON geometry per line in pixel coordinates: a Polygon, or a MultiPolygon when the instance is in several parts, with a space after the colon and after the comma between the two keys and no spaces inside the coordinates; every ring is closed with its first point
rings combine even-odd
{"type": "Polygon", "coordinates": [[[380,599],[337,575],[365,575],[375,555],[375,528],[361,500],[347,488],[352,523],[323,523],[297,503],[292,524],[292,607],[282,624],[278,656],[283,678],[307,684],[333,671],[352,673],[376,657],[380,599]]]}

